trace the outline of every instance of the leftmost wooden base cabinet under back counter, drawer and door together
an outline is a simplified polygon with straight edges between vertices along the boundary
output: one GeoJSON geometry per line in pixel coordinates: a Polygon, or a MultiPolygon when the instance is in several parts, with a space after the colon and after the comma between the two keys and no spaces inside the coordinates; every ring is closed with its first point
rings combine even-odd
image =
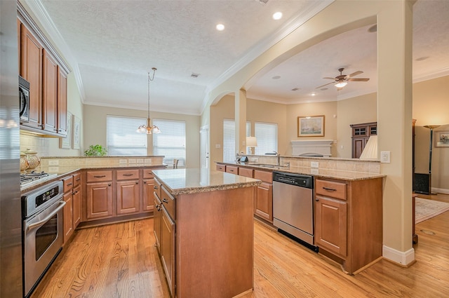
{"type": "Polygon", "coordinates": [[[86,217],[112,217],[112,170],[86,172],[86,217]]]}

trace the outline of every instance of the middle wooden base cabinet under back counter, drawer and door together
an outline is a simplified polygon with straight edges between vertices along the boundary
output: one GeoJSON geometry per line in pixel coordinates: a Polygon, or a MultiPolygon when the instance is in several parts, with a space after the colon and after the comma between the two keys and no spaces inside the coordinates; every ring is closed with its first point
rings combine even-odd
{"type": "Polygon", "coordinates": [[[139,212],[139,170],[116,170],[117,215],[139,212]]]}

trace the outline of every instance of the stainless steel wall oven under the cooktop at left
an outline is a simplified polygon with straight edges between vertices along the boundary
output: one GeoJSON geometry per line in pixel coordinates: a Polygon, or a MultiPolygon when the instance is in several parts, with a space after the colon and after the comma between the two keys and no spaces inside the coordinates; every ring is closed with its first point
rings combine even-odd
{"type": "Polygon", "coordinates": [[[22,196],[23,287],[29,297],[62,250],[64,238],[62,181],[22,196]]]}

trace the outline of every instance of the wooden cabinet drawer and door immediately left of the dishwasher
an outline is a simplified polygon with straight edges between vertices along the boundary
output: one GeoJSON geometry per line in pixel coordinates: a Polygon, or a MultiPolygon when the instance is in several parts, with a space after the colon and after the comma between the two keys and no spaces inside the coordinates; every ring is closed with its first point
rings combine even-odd
{"type": "Polygon", "coordinates": [[[254,170],[254,179],[262,180],[262,184],[257,186],[254,198],[254,214],[273,222],[273,174],[254,170]]]}

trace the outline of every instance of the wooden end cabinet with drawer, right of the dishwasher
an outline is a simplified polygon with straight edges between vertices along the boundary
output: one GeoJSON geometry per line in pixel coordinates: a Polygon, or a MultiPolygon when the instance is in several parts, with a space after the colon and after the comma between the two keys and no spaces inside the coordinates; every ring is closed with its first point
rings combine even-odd
{"type": "Polygon", "coordinates": [[[382,257],[382,178],[315,181],[315,244],[349,274],[382,257]]]}

